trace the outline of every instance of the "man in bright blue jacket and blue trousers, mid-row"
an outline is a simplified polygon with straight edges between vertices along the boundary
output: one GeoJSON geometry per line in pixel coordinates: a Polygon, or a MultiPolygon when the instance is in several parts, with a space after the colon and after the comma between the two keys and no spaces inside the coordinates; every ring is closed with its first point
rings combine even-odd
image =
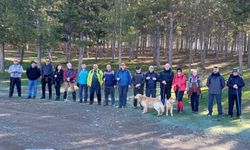
{"type": "Polygon", "coordinates": [[[126,69],[125,63],[121,63],[120,69],[117,71],[115,78],[118,82],[119,108],[123,108],[127,104],[128,88],[131,84],[131,74],[130,71],[126,69]]]}

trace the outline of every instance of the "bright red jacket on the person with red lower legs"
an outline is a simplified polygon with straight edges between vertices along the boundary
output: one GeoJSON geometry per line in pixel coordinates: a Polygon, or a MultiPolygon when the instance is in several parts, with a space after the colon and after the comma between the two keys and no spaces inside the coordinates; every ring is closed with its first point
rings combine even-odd
{"type": "Polygon", "coordinates": [[[174,91],[177,91],[177,88],[179,91],[186,90],[186,76],[184,73],[182,73],[180,76],[178,76],[177,73],[174,75],[173,88],[174,91]]]}

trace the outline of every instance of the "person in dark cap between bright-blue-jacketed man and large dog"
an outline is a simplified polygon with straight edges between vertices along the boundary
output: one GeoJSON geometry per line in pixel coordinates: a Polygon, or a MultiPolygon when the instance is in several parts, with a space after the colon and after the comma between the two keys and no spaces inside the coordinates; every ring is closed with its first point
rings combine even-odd
{"type": "MultiPolygon", "coordinates": [[[[141,71],[140,66],[135,67],[135,73],[132,78],[132,84],[134,86],[134,96],[137,94],[144,93],[144,83],[145,83],[145,76],[141,71]]],[[[134,99],[134,108],[137,108],[137,99],[134,99]]]]}

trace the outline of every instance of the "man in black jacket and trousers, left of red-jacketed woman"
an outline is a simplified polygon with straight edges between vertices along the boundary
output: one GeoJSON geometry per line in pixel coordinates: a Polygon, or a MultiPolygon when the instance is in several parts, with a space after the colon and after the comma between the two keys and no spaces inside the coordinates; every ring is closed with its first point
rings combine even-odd
{"type": "Polygon", "coordinates": [[[170,64],[165,64],[165,69],[159,75],[159,81],[161,83],[161,101],[165,103],[165,99],[171,97],[172,82],[174,78],[174,73],[170,68],[170,64]]]}

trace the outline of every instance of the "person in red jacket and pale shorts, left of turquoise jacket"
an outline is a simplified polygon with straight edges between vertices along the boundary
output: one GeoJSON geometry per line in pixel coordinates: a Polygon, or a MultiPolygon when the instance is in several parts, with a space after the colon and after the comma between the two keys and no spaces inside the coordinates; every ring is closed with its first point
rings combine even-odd
{"type": "Polygon", "coordinates": [[[73,69],[71,63],[67,63],[67,69],[64,71],[64,101],[67,101],[68,89],[71,88],[73,100],[76,101],[75,81],[76,81],[76,70],[73,69]]]}

